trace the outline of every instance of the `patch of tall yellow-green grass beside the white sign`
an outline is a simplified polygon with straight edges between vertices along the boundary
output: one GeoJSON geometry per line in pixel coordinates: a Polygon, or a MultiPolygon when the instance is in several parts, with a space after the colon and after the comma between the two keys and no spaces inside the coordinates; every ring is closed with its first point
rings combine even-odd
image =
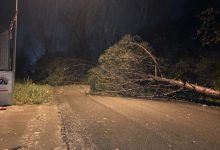
{"type": "Polygon", "coordinates": [[[30,80],[24,83],[16,83],[14,99],[16,105],[48,103],[52,99],[52,87],[38,85],[30,80]]]}

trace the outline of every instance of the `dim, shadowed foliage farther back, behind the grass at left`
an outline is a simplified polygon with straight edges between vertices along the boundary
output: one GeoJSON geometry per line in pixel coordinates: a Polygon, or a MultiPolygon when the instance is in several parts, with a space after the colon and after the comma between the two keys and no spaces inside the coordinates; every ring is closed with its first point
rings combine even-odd
{"type": "Polygon", "coordinates": [[[33,80],[53,86],[81,83],[91,67],[83,60],[42,56],[35,64],[33,80]]]}

